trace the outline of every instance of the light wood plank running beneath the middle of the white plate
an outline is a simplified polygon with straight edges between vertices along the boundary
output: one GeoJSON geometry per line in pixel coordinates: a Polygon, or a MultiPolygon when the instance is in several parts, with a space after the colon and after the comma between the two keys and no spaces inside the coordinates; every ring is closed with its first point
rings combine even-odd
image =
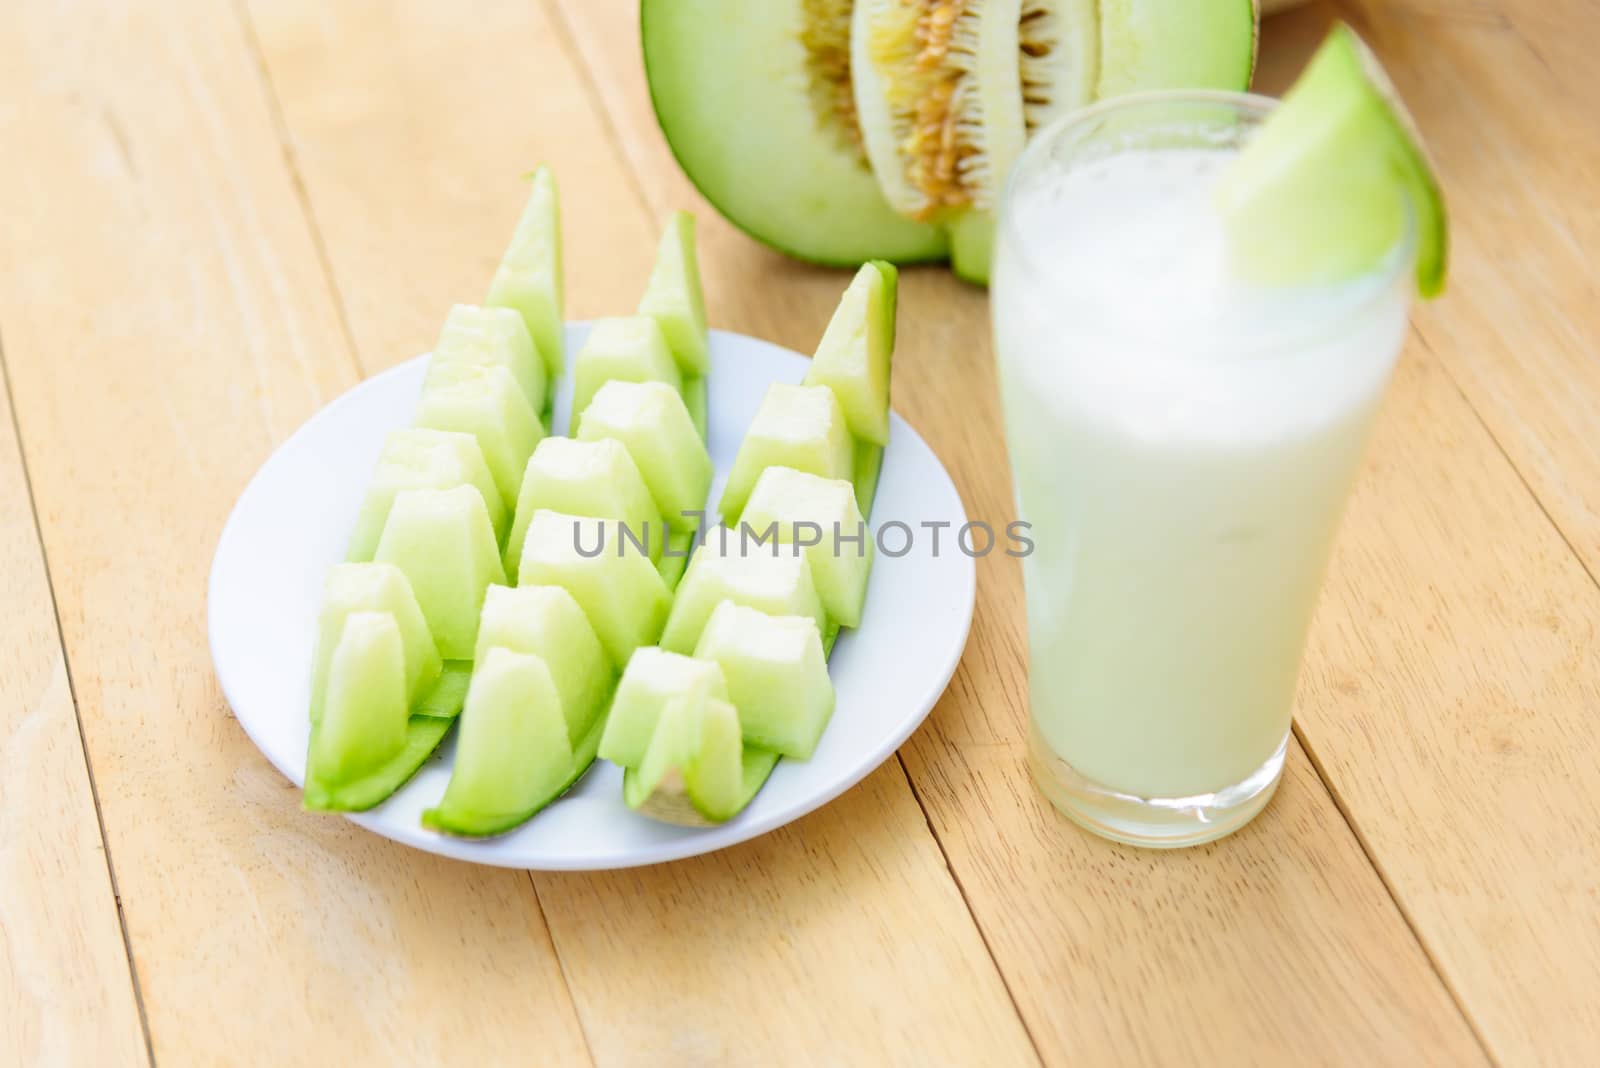
{"type": "MultiPolygon", "coordinates": [[[[483,293],[539,160],[562,184],[570,315],[634,307],[664,208],[638,198],[538,5],[251,13],[363,366],[483,293]]],[[[709,283],[714,317],[733,289],[709,283]]],[[[898,764],[723,855],[534,884],[602,1062],[1034,1060],[898,764]]]]}

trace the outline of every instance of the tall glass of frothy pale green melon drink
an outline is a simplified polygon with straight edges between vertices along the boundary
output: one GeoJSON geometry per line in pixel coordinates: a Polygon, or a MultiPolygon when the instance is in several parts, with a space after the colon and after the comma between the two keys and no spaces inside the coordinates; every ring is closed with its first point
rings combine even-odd
{"type": "Polygon", "coordinates": [[[1338,281],[1237,277],[1214,187],[1272,109],[1232,93],[1096,106],[1029,144],[1002,209],[1030,766],[1070,819],[1142,846],[1221,838],[1277,787],[1413,294],[1408,219],[1338,281]]]}

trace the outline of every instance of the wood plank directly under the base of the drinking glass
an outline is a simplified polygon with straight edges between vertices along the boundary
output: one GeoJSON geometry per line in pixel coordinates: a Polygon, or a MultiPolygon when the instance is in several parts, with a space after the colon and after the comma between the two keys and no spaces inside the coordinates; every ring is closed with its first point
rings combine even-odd
{"type": "MultiPolygon", "coordinates": [[[[635,32],[624,5],[558,6],[640,187],[658,209],[698,206],[707,285],[742,297],[720,323],[810,349],[842,275],[758,248],[693,193],[618,45],[635,32]]],[[[986,297],[939,269],[902,280],[896,408],[971,515],[1008,516],[986,297]]],[[[1101,843],[1027,782],[1024,648],[1019,569],[987,558],[963,665],[902,758],[1046,1062],[1482,1062],[1299,747],[1282,796],[1227,843],[1179,855],[1101,843]]]]}

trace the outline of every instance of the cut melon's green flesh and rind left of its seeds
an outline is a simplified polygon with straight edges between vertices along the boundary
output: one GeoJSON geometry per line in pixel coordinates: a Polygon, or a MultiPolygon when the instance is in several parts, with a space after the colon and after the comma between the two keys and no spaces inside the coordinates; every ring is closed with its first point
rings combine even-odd
{"type": "Polygon", "coordinates": [[[944,235],[898,216],[861,149],[850,0],[645,0],[656,118],[701,193],[790,256],[854,267],[941,259],[944,235]]]}

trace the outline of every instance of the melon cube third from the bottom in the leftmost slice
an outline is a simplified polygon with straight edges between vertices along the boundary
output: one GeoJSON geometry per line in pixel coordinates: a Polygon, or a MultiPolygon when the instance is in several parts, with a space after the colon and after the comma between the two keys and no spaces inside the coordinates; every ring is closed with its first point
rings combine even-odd
{"type": "Polygon", "coordinates": [[[446,660],[472,657],[490,584],[506,582],[483,497],[472,486],[395,496],[378,540],[379,563],[405,572],[446,660]]]}

